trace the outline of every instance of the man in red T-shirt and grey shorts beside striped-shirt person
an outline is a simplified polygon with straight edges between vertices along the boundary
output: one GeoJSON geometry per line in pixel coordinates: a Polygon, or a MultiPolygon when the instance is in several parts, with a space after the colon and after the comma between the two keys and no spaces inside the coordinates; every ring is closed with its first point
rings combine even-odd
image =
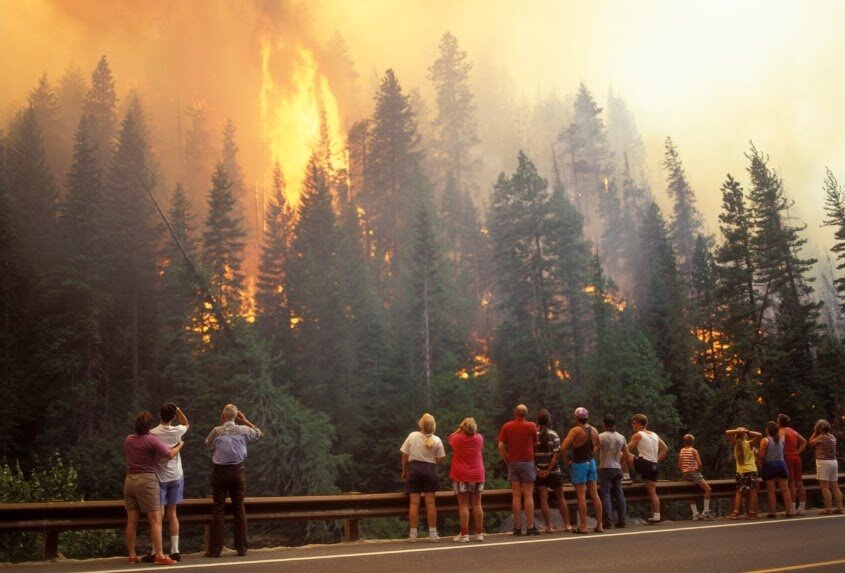
{"type": "Polygon", "coordinates": [[[537,425],[526,420],[528,407],[520,404],[514,410],[514,419],[499,430],[499,455],[508,466],[513,500],[513,534],[522,535],[522,510],[528,529],[526,535],[540,535],[534,526],[534,444],[537,442],[537,425]]]}

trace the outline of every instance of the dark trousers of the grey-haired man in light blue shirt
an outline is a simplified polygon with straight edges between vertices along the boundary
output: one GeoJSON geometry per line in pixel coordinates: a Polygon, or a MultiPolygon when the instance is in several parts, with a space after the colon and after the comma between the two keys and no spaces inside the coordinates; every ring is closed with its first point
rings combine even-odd
{"type": "Polygon", "coordinates": [[[211,472],[211,491],[214,496],[214,514],[208,540],[208,552],[219,555],[223,550],[223,525],[226,519],[226,496],[232,498],[232,514],[235,526],[235,549],[246,553],[246,469],[243,464],[214,464],[211,472]]]}

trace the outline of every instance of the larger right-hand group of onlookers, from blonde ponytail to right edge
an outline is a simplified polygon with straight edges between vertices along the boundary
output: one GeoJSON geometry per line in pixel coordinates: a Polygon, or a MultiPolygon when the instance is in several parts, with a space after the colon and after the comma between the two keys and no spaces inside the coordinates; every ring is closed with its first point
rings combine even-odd
{"type": "MultiPolygon", "coordinates": [[[[534,490],[538,492],[540,510],[546,532],[553,532],[549,507],[549,493],[553,493],[563,518],[564,530],[587,534],[587,496],[593,504],[596,525],[593,531],[602,533],[610,527],[625,527],[627,506],[622,489],[630,481],[629,471],[634,471],[645,481],[651,505],[651,515],[646,523],[662,521],[660,498],[657,494],[657,477],[660,462],[669,448],[655,432],[648,429],[648,418],[637,414],[631,418],[632,435],[626,439],[616,431],[612,415],[603,419],[604,431],[599,432],[589,423],[586,408],[577,408],[574,424],[561,440],[550,427],[550,415],[540,410],[537,421],[528,419],[528,408],[520,404],[514,410],[514,419],[499,430],[497,446],[508,468],[512,490],[513,535],[539,535],[534,523],[534,490]],[[598,464],[596,462],[598,460],[598,464]],[[563,492],[562,466],[569,470],[575,488],[577,521],[571,522],[569,508],[563,492]],[[612,507],[615,503],[616,511],[612,507]],[[615,518],[614,518],[615,513],[615,518]],[[525,529],[523,530],[523,514],[525,529]]],[[[434,416],[423,414],[419,429],[411,432],[402,444],[402,479],[409,495],[409,540],[419,538],[419,505],[425,500],[428,522],[428,539],[438,541],[437,507],[433,494],[439,489],[437,464],[446,459],[442,440],[434,432],[434,416]]],[[[765,435],[739,427],[725,432],[736,461],[736,497],[729,519],[756,519],[757,493],[761,483],[768,495],[766,517],[776,517],[777,491],[780,490],[785,517],[803,515],[807,494],[803,483],[801,454],[807,447],[815,449],[816,477],[824,499],[823,514],[842,513],[842,492],[838,484],[836,438],[826,420],[819,420],[813,434],[805,439],[790,427],[789,416],[780,414],[777,421],[766,425],[765,435]],[[745,502],[745,513],[742,513],[745,502]]],[[[481,503],[484,491],[484,438],[478,433],[473,418],[465,418],[448,438],[452,450],[449,478],[458,498],[460,533],[454,538],[458,543],[484,540],[484,510],[481,503]],[[474,532],[470,535],[470,516],[474,532]]],[[[703,493],[703,507],[698,510],[697,499],[690,500],[692,518],[714,519],[710,509],[712,490],[702,475],[701,456],[695,448],[695,437],[683,437],[678,453],[678,469],[683,479],[698,485],[703,493]]]]}

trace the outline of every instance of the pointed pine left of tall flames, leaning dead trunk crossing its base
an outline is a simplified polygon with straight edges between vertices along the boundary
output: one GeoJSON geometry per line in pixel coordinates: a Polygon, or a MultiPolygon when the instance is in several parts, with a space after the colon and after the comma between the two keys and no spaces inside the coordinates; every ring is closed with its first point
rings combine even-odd
{"type": "Polygon", "coordinates": [[[211,176],[202,254],[211,293],[228,320],[239,316],[241,311],[245,237],[243,219],[236,214],[229,174],[223,163],[218,161],[211,176]]]}

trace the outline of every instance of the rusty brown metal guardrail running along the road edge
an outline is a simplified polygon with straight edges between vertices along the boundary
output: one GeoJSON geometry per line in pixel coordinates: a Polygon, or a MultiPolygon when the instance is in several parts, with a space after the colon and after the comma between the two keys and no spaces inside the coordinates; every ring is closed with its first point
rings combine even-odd
{"type": "MultiPolygon", "coordinates": [[[[845,473],[839,474],[839,483],[845,485],[845,473]]],[[[730,498],[736,493],[734,480],[708,481],[713,498],[730,498]]],[[[810,493],[820,490],[813,475],[804,476],[804,487],[810,493]]],[[[564,486],[571,509],[575,502],[575,488],[564,486]]],[[[628,503],[648,502],[644,483],[625,486],[628,503]]],[[[658,482],[662,502],[687,500],[700,496],[701,489],[689,482],[658,482]]],[[[458,503],[449,491],[436,494],[440,514],[456,515],[458,503]]],[[[589,497],[588,497],[589,501],[589,497]]],[[[250,521],[344,521],[344,541],[359,538],[358,522],[377,517],[403,517],[408,512],[408,498],[403,493],[375,493],[317,495],[300,497],[248,497],[246,511],[250,521]]],[[[511,490],[486,490],[483,497],[486,511],[510,511],[511,490]]],[[[186,499],[179,506],[179,521],[183,524],[211,524],[211,498],[186,499]]],[[[227,510],[229,509],[227,505],[227,510]]],[[[227,520],[231,520],[227,511],[227,520]]],[[[58,556],[59,533],[69,530],[119,529],[126,524],[126,511],[122,500],[4,503],[0,504],[0,532],[36,531],[44,534],[42,557],[58,556]]]]}

